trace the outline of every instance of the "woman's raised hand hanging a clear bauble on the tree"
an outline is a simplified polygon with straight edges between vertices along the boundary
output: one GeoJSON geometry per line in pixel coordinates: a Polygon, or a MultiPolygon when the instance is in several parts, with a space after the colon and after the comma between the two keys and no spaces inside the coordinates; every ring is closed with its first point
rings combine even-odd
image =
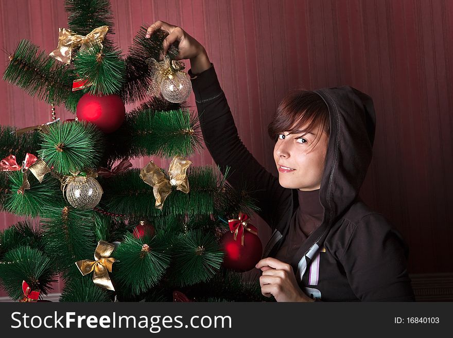
{"type": "Polygon", "coordinates": [[[204,47],[178,26],[173,26],[163,21],[156,21],[148,27],[146,38],[150,38],[152,33],[158,29],[162,29],[168,33],[163,42],[164,56],[167,53],[168,47],[172,43],[179,41],[179,54],[176,59],[189,59],[193,74],[201,73],[203,70],[211,67],[211,62],[207,57],[204,47]]]}

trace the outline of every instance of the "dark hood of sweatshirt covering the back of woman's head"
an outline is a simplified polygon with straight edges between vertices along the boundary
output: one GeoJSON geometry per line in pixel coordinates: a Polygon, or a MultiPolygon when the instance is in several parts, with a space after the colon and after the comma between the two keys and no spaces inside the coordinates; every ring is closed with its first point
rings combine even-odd
{"type": "Polygon", "coordinates": [[[323,221],[300,250],[308,257],[322,247],[329,228],[356,201],[371,162],[376,122],[373,100],[353,87],[321,88],[315,93],[327,104],[330,135],[319,193],[323,221]]]}

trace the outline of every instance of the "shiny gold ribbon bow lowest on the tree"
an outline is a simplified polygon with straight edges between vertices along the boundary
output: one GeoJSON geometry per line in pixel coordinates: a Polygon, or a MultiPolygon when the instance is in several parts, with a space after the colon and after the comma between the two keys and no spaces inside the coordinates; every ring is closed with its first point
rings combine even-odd
{"type": "Polygon", "coordinates": [[[115,258],[110,257],[114,248],[113,244],[99,241],[94,252],[95,260],[83,259],[76,262],[77,268],[83,276],[94,271],[93,282],[101,288],[112,291],[115,291],[115,289],[110,280],[109,272],[112,272],[112,265],[116,261],[115,258]]]}

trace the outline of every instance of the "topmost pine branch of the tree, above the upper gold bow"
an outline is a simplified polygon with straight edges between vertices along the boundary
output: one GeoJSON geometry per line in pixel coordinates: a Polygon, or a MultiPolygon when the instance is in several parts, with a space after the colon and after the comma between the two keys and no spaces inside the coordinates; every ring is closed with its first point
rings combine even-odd
{"type": "Polygon", "coordinates": [[[113,34],[113,14],[109,0],[66,0],[65,10],[69,29],[86,35],[100,26],[109,26],[113,34]]]}

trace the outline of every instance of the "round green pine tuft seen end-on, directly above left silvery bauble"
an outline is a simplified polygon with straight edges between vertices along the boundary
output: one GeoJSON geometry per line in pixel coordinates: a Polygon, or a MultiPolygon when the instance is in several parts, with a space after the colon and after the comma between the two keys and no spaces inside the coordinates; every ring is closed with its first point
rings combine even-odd
{"type": "Polygon", "coordinates": [[[40,157],[64,175],[96,168],[105,148],[103,133],[82,121],[53,123],[41,139],[40,157]]]}

